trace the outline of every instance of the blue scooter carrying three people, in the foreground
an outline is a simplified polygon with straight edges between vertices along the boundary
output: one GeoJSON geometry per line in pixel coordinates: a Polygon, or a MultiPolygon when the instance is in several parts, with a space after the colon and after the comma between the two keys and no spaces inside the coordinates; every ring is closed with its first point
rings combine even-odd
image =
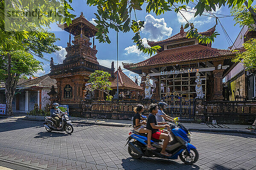
{"type": "Polygon", "coordinates": [[[156,150],[147,150],[147,134],[138,133],[131,129],[129,137],[127,140],[128,153],[135,159],[140,159],[145,157],[157,157],[163,159],[178,159],[180,157],[181,161],[185,164],[194,164],[198,160],[198,151],[196,147],[190,144],[190,133],[182,124],[178,122],[179,118],[175,118],[175,124],[169,123],[170,129],[170,139],[166,152],[171,153],[172,156],[163,156],[160,151],[163,146],[163,140],[151,139],[151,145],[156,147],[156,150]],[[131,139],[134,139],[132,142],[131,139]]]}

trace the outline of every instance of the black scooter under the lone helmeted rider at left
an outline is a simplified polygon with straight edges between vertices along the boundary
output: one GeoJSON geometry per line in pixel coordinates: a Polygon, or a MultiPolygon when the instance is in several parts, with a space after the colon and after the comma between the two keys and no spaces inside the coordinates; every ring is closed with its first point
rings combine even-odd
{"type": "Polygon", "coordinates": [[[55,120],[52,119],[51,116],[46,116],[45,117],[45,123],[44,123],[44,127],[48,132],[51,131],[65,131],[67,134],[71,134],[73,133],[73,125],[71,124],[71,120],[69,120],[69,117],[67,116],[67,114],[65,113],[61,113],[61,128],[58,129],[55,125],[55,120]]]}

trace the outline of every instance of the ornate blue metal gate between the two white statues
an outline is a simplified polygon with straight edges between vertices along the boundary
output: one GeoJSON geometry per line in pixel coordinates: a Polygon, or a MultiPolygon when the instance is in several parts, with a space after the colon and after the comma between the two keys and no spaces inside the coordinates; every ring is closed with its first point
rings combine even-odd
{"type": "Polygon", "coordinates": [[[161,100],[168,104],[165,110],[167,115],[180,119],[195,119],[195,99],[186,100],[177,93],[167,93],[161,100]]]}

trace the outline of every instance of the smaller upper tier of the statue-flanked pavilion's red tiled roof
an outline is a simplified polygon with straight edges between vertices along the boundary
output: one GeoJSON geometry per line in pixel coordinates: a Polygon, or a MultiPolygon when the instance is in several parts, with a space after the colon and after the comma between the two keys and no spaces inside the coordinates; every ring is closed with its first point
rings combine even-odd
{"type": "MultiPolygon", "coordinates": [[[[213,26],[212,28],[208,29],[207,31],[204,32],[200,32],[198,34],[202,34],[202,35],[211,35],[214,31],[215,31],[215,27],[213,26]]],[[[181,29],[183,29],[183,27],[181,26],[181,29]]],[[[161,41],[148,41],[148,45],[150,46],[154,46],[154,45],[158,45],[164,42],[168,42],[168,41],[172,41],[172,40],[179,40],[179,39],[183,39],[186,38],[186,32],[184,31],[180,31],[178,34],[173,35],[172,37],[167,38],[166,40],[161,40],[161,41]]]]}

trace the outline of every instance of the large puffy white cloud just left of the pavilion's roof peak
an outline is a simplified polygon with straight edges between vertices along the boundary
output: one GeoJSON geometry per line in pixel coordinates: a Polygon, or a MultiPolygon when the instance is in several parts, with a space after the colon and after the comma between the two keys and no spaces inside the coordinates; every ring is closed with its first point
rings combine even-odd
{"type": "Polygon", "coordinates": [[[165,37],[169,37],[172,34],[172,28],[167,27],[167,23],[164,18],[155,18],[153,15],[148,14],[145,17],[145,28],[142,29],[142,32],[149,34],[148,40],[159,41],[163,40],[165,37]]]}

